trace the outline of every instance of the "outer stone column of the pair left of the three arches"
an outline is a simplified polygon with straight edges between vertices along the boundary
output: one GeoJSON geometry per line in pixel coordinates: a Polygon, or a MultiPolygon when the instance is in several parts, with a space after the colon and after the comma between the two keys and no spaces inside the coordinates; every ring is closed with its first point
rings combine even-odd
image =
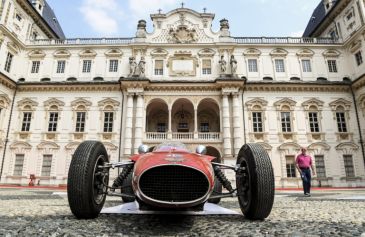
{"type": "Polygon", "coordinates": [[[127,94],[127,109],[124,128],[124,155],[132,154],[133,94],[127,94]]]}

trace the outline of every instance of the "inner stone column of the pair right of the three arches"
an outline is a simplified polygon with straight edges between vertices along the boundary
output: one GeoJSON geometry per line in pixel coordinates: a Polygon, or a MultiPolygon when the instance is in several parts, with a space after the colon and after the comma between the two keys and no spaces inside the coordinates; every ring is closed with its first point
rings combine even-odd
{"type": "Polygon", "coordinates": [[[223,154],[224,158],[232,157],[232,144],[231,144],[231,123],[229,116],[229,101],[228,94],[223,94],[223,154]]]}

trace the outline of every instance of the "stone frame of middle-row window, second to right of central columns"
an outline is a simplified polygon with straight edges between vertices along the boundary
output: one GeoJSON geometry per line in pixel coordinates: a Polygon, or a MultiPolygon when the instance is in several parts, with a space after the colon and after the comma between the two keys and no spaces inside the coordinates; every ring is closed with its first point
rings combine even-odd
{"type": "Polygon", "coordinates": [[[297,140],[297,133],[294,132],[294,110],[297,102],[290,99],[290,98],[283,98],[281,100],[278,100],[274,103],[274,106],[276,107],[277,111],[277,119],[278,119],[278,135],[279,135],[279,141],[280,142],[288,142],[292,141],[295,142],[297,140]],[[291,126],[291,132],[283,132],[282,130],[282,124],[281,124],[281,112],[290,112],[290,126],[291,126]]]}

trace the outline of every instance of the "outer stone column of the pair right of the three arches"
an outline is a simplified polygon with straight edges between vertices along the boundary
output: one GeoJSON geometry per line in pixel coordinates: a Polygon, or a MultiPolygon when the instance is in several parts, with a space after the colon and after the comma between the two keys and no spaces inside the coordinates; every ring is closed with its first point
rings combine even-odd
{"type": "Polygon", "coordinates": [[[233,94],[233,139],[234,139],[234,155],[238,155],[242,144],[243,134],[243,120],[242,120],[242,100],[240,94],[233,94]]]}

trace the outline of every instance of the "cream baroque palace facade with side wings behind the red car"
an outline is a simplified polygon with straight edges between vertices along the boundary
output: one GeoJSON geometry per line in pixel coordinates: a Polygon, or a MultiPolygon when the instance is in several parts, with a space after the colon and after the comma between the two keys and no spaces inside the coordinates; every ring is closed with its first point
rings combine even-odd
{"type": "Polygon", "coordinates": [[[301,185],[306,146],[314,185],[365,186],[364,19],[364,0],[323,0],[303,37],[233,37],[182,6],[152,14],[152,33],[67,39],[47,2],[3,0],[0,182],[66,184],[83,140],[112,161],[179,140],[226,163],[260,143],[277,187],[301,185]]]}

